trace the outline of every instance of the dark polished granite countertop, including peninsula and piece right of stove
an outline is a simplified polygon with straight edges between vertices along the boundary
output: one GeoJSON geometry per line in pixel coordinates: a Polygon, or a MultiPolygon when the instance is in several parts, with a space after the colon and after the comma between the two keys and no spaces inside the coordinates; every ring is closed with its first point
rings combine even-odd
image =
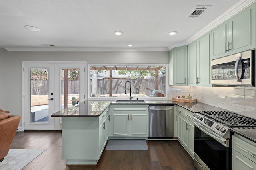
{"type": "MultiPolygon", "coordinates": [[[[116,100],[115,100],[116,101],[116,100]]],[[[75,106],[71,106],[68,109],[63,109],[56,113],[53,113],[52,117],[97,117],[99,116],[110,104],[127,105],[130,103],[116,103],[115,101],[92,101],[86,100],[80,102],[75,106]],[[98,104],[96,104],[98,102],[98,104]],[[97,106],[97,107],[96,107],[97,106]]],[[[227,111],[219,107],[211,106],[201,102],[185,103],[185,102],[172,102],[172,100],[162,101],[146,101],[144,103],[132,103],[132,104],[147,104],[147,105],[173,105],[177,104],[183,108],[192,111],[194,113],[198,111],[227,111]]],[[[238,133],[247,139],[256,142],[256,129],[239,129],[230,128],[234,133],[238,133]]]]}

